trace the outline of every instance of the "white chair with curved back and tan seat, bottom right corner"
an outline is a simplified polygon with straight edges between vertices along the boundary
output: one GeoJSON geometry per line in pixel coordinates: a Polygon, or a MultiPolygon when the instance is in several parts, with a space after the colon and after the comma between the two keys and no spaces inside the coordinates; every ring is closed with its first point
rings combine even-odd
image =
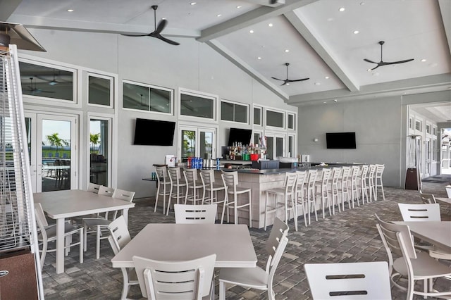
{"type": "Polygon", "coordinates": [[[408,300],[412,300],[414,295],[438,298],[451,296],[451,291],[438,292],[433,288],[433,280],[451,276],[449,266],[436,261],[426,252],[416,252],[409,226],[387,223],[378,215],[376,220],[377,230],[387,251],[388,270],[393,285],[407,291],[408,300]],[[394,259],[393,254],[399,257],[394,259]],[[402,285],[405,281],[401,278],[407,280],[407,286],[402,285]],[[415,282],[419,280],[423,282],[423,292],[415,289],[415,282]]]}

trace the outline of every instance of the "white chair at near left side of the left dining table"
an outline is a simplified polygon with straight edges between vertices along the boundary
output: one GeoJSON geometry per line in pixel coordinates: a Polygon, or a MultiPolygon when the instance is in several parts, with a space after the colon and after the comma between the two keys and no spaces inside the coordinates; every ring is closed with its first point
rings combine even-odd
{"type": "MultiPolygon", "coordinates": [[[[47,223],[44,210],[42,209],[42,206],[39,202],[35,203],[35,217],[37,225],[39,227],[37,240],[39,241],[39,244],[42,245],[42,249],[39,249],[39,252],[41,252],[41,268],[43,268],[47,252],[56,251],[56,249],[49,249],[49,243],[56,242],[56,224],[49,225],[49,223],[47,223]]],[[[65,222],[64,239],[64,249],[66,249],[66,255],[69,254],[69,249],[71,246],[78,245],[80,247],[80,263],[83,263],[83,227],[75,227],[73,225],[70,225],[70,223],[65,222]],[[72,236],[77,233],[79,234],[78,242],[72,242],[72,236]]]]}

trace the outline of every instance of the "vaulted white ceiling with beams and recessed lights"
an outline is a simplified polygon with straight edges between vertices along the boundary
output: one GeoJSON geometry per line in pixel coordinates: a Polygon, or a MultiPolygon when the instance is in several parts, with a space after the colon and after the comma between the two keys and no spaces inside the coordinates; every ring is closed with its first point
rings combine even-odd
{"type": "MultiPolygon", "coordinates": [[[[8,0],[0,1],[0,20],[49,30],[143,34],[154,31],[150,6],[158,5],[156,22],[168,20],[164,37],[209,44],[297,106],[451,89],[450,0],[269,2],[8,0]],[[364,58],[381,61],[379,41],[385,41],[383,61],[414,61],[369,71],[376,65],[364,58]],[[289,79],[309,80],[280,86],[272,77],[285,79],[285,63],[289,79]]],[[[451,119],[451,106],[443,109],[439,121],[451,119]]]]}

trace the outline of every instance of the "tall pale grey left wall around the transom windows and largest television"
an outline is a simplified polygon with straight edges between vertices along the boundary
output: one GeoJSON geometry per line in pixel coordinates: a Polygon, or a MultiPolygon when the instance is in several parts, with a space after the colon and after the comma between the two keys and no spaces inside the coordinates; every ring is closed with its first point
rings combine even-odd
{"type": "MultiPolygon", "coordinates": [[[[144,182],[142,178],[150,177],[154,171],[152,164],[163,163],[166,154],[177,153],[177,140],[173,146],[134,146],[134,120],[154,118],[177,121],[179,87],[216,94],[219,99],[297,112],[297,107],[285,104],[233,63],[194,39],[179,39],[180,46],[171,46],[150,37],[36,29],[30,32],[47,52],[23,51],[23,54],[118,74],[118,132],[113,135],[113,142],[117,144],[118,176],[117,184],[113,185],[135,191],[137,198],[155,193],[154,183],[144,182]],[[123,79],[174,89],[175,115],[121,109],[123,79]]],[[[83,102],[82,111],[86,114],[91,109],[86,105],[86,93],[79,97],[83,102]]],[[[216,122],[215,125],[218,126],[218,149],[226,144],[227,128],[242,127],[226,122],[216,122]]],[[[252,125],[244,127],[252,128],[252,125]]],[[[149,135],[156,134],[157,129],[149,132],[149,135]]],[[[82,161],[87,160],[82,158],[82,161]]],[[[80,187],[84,186],[85,182],[80,182],[80,187]]]]}

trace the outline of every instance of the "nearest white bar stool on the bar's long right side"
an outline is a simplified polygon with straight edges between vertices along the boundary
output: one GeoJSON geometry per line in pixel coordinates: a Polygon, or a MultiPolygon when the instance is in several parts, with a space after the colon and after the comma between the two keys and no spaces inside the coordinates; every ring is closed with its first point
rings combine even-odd
{"type": "Polygon", "coordinates": [[[266,199],[265,199],[265,220],[264,220],[264,230],[266,230],[266,222],[268,219],[268,213],[276,213],[279,208],[284,209],[285,213],[285,224],[288,226],[288,211],[293,212],[293,217],[295,219],[295,230],[297,231],[297,215],[296,215],[296,204],[295,204],[295,190],[296,190],[296,173],[285,173],[285,180],[283,180],[283,187],[274,187],[273,189],[267,189],[266,199]],[[268,204],[268,196],[274,196],[274,206],[268,204]],[[283,196],[283,201],[278,201],[278,196],[283,196]]]}

